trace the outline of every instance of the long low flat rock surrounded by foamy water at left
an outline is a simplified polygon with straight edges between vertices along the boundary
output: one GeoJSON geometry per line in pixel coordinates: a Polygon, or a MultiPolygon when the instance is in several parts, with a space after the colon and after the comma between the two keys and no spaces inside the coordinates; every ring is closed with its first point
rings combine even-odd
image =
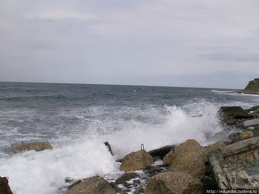
{"type": "Polygon", "coordinates": [[[21,145],[14,146],[13,152],[19,153],[19,152],[33,150],[33,149],[35,151],[41,151],[44,149],[52,149],[52,147],[51,147],[50,143],[48,143],[48,142],[24,143],[21,145]]]}

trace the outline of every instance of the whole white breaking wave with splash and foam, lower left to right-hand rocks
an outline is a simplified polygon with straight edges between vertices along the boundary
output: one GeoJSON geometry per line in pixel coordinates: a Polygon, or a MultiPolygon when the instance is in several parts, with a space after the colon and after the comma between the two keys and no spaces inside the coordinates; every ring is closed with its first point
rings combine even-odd
{"type": "MultiPolygon", "coordinates": [[[[149,151],[187,139],[207,145],[222,138],[211,139],[223,128],[216,117],[218,106],[204,100],[181,107],[150,105],[111,109],[90,107],[85,112],[90,120],[87,125],[63,142],[50,139],[53,150],[28,151],[2,158],[1,176],[9,177],[14,193],[58,193],[60,187],[68,185],[64,182],[66,177],[118,177],[122,172],[115,160],[140,150],[142,143],[149,151]],[[115,157],[103,144],[105,141],[110,143],[115,157]]],[[[76,117],[84,124],[85,117],[76,117]]]]}

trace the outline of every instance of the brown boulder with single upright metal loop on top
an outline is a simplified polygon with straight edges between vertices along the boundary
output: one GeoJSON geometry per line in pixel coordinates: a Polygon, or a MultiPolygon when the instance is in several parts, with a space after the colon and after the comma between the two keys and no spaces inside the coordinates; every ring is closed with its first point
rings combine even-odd
{"type": "Polygon", "coordinates": [[[120,170],[122,171],[135,171],[143,170],[146,166],[154,164],[152,156],[145,150],[139,150],[126,155],[121,163],[120,170]]]}

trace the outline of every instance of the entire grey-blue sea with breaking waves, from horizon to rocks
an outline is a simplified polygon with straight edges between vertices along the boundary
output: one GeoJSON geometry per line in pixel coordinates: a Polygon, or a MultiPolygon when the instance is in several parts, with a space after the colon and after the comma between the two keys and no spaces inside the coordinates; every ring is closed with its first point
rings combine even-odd
{"type": "Polygon", "coordinates": [[[117,159],[195,139],[227,140],[221,106],[259,105],[238,89],[0,82],[0,176],[16,194],[66,193],[65,178],[118,178],[117,159]],[[14,145],[45,142],[53,149],[19,154],[14,145]],[[104,142],[108,141],[114,156],[104,142]]]}

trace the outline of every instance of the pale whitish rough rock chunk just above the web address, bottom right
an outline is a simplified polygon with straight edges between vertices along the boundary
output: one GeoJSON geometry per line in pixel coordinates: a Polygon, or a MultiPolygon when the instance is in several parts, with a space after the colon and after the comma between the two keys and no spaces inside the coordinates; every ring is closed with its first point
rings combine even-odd
{"type": "Polygon", "coordinates": [[[259,189],[259,184],[242,171],[233,171],[227,175],[228,182],[233,189],[259,189]]]}

